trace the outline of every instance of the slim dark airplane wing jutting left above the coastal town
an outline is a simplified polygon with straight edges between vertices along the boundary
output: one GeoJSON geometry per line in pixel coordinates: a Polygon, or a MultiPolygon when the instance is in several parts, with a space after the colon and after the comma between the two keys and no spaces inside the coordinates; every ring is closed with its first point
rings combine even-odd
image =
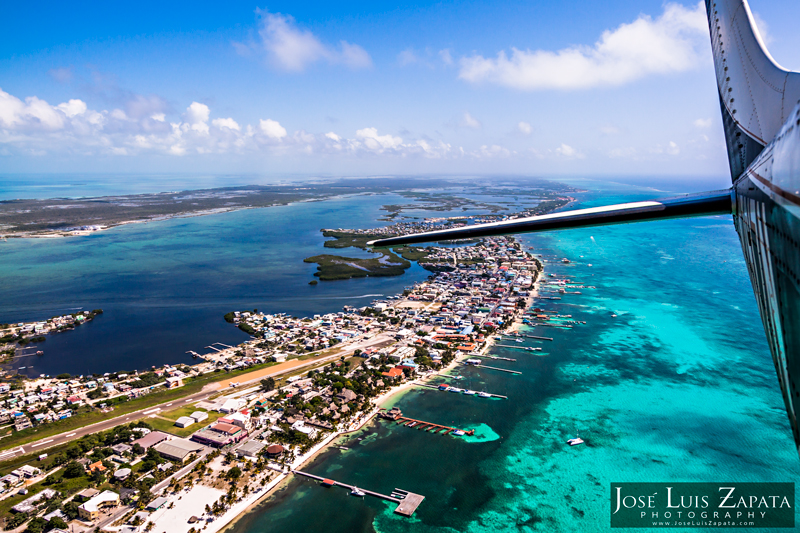
{"type": "Polygon", "coordinates": [[[631,202],[605,207],[591,207],[561,213],[551,213],[527,218],[514,218],[502,222],[473,224],[454,229],[428,231],[378,239],[368,244],[376,248],[419,244],[424,242],[452,239],[473,239],[508,235],[512,233],[532,233],[585,226],[605,226],[660,220],[665,218],[684,218],[705,215],[730,215],[733,211],[733,196],[730,189],[703,193],[686,194],[647,202],[631,202]]]}

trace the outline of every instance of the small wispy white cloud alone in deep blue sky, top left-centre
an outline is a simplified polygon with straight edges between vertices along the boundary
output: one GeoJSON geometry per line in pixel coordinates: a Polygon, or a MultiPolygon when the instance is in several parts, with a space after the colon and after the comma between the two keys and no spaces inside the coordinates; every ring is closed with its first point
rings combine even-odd
{"type": "MultiPolygon", "coordinates": [[[[257,11],[262,16],[259,29],[262,45],[270,60],[279,68],[301,72],[312,63],[325,60],[352,69],[372,66],[366,50],[347,41],[339,42],[339,49],[323,44],[311,31],[297,27],[293,17],[280,13],[257,11]]],[[[239,53],[247,46],[234,43],[239,53]]]]}

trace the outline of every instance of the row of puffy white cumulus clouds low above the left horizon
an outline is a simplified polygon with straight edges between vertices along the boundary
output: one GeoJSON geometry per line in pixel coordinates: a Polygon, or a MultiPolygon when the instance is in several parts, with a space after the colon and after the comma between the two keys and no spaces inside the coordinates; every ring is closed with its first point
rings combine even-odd
{"type": "Polygon", "coordinates": [[[372,126],[357,129],[351,136],[333,131],[318,135],[304,130],[289,133],[274,119],[241,124],[231,117],[215,117],[213,110],[201,102],[191,102],[180,113],[135,117],[119,108],[94,110],[79,99],[56,105],[34,96],[22,100],[0,89],[0,154],[31,156],[58,152],[176,157],[212,153],[314,153],[427,159],[514,155],[497,145],[466,152],[441,140],[414,138],[410,132],[400,135],[381,132],[372,126]]]}

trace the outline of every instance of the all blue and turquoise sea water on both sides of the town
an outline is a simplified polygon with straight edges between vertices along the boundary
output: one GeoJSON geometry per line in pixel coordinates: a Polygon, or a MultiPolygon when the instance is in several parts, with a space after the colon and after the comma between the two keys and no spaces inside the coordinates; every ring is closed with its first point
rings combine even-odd
{"type": "MultiPolygon", "coordinates": [[[[582,206],[708,188],[570,184],[588,190],[579,195],[582,206]]],[[[0,321],[106,309],[95,323],[51,337],[45,355],[30,358],[32,373],[175,361],[184,350],[243,339],[221,320],[232,309],[333,311],[424,279],[428,273],[415,266],[398,278],[307,285],[314,267],[302,258],[323,250],[321,227],[378,225],[381,205],[405,202],[345,197],[0,243],[0,321]]],[[[554,338],[520,345],[542,346],[541,353],[495,348],[517,362],[491,366],[522,375],[456,372],[459,386],[508,400],[433,390],[393,399],[407,416],[476,428],[476,437],[377,422],[342,439],[348,450],[330,449],[305,467],[378,492],[425,495],[415,516],[292,480],[234,533],[606,531],[611,482],[798,479],[800,460],[730,217],[521,239],[542,255],[546,274],[596,287],[536,304],[587,324],[529,330],[554,338]],[[570,448],[564,442],[576,431],[586,444],[570,448]]]]}

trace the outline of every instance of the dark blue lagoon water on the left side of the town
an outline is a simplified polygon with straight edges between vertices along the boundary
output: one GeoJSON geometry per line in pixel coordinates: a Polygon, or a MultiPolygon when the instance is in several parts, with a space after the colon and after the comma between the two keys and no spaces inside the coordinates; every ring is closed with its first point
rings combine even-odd
{"type": "Polygon", "coordinates": [[[0,322],[104,310],[74,331],[49,335],[39,346],[44,355],[15,366],[26,375],[77,375],[190,362],[188,350],[208,353],[213,342],[248,338],[222,319],[229,311],[312,316],[402,292],[429,272],[414,264],[400,277],[311,286],[316,265],[303,262],[321,253],[369,255],[324,248],[320,229],[374,227],[380,207],[400,200],[343,197],[0,242],[0,322]]]}

